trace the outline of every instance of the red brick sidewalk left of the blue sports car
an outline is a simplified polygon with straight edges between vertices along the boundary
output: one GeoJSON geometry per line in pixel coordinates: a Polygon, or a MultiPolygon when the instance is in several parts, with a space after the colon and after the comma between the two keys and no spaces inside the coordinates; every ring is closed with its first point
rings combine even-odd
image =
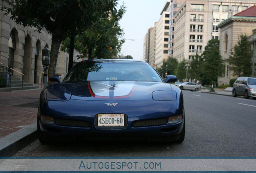
{"type": "Polygon", "coordinates": [[[0,93],[0,138],[36,123],[40,93],[41,89],[0,93]]]}

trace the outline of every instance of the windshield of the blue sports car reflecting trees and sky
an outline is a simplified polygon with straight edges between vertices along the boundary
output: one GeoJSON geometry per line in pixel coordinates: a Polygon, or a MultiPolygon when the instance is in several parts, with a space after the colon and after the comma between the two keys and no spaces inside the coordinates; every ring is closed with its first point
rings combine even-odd
{"type": "Polygon", "coordinates": [[[63,82],[112,80],[162,82],[151,65],[134,61],[82,62],[68,72],[63,82]]]}

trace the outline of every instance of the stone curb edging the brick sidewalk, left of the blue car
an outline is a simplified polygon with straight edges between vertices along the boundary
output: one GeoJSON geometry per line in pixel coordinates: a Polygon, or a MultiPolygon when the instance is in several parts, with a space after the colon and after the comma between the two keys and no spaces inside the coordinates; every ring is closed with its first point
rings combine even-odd
{"type": "Polygon", "coordinates": [[[35,139],[37,139],[37,123],[0,139],[0,156],[12,156],[35,139]]]}

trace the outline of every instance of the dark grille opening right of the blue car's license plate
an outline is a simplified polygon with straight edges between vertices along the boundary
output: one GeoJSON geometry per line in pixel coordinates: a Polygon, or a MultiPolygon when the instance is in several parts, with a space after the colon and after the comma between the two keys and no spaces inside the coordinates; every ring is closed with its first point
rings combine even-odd
{"type": "Polygon", "coordinates": [[[150,119],[150,120],[139,120],[132,123],[133,127],[147,127],[167,124],[167,118],[164,119],[150,119]]]}

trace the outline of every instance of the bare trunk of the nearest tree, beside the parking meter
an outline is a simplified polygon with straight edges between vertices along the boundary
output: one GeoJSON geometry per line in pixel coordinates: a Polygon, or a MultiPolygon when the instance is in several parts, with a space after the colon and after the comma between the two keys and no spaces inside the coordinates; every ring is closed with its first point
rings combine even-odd
{"type": "Polygon", "coordinates": [[[57,34],[52,34],[52,47],[50,52],[50,65],[48,70],[48,78],[54,76],[56,73],[56,64],[58,59],[58,53],[60,49],[60,44],[62,42],[62,37],[57,34]]]}

